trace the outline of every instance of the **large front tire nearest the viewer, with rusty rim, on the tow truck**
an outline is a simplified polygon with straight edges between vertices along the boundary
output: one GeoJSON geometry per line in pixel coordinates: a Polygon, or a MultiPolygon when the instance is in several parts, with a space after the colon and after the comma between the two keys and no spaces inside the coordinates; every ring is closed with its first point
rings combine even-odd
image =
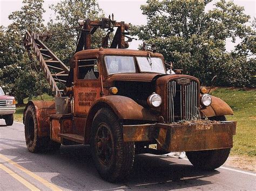
{"type": "Polygon", "coordinates": [[[124,142],[123,127],[110,109],[100,109],[93,119],[92,158],[100,176],[116,182],[129,175],[134,160],[134,142],[124,142]]]}

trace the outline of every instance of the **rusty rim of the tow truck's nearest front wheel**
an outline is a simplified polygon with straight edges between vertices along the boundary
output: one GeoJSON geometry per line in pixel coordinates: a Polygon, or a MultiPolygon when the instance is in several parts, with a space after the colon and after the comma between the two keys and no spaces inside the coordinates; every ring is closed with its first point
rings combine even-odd
{"type": "Polygon", "coordinates": [[[113,137],[106,124],[100,124],[95,136],[96,155],[100,163],[109,166],[113,158],[113,137]]]}

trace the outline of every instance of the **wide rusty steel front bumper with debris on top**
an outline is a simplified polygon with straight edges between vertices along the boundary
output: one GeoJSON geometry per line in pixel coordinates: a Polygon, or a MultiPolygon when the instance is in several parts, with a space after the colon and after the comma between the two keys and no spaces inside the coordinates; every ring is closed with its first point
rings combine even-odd
{"type": "Polygon", "coordinates": [[[220,124],[144,124],[124,125],[124,141],[157,141],[163,151],[204,151],[231,148],[236,121],[220,124]]]}

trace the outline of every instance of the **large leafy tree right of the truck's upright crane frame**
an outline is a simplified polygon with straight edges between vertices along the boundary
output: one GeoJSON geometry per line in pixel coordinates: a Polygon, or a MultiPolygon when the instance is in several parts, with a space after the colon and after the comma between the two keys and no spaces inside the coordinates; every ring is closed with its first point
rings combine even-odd
{"type": "Polygon", "coordinates": [[[167,62],[198,77],[205,85],[217,74],[218,85],[255,86],[255,66],[250,64],[255,59],[249,62],[246,58],[255,49],[255,32],[246,25],[250,16],[245,15],[241,6],[224,0],[205,12],[210,2],[148,0],[141,6],[147,24],[132,26],[131,32],[156,44],[167,62]],[[231,53],[226,52],[225,40],[231,38],[234,42],[238,37],[242,43],[231,53]]]}

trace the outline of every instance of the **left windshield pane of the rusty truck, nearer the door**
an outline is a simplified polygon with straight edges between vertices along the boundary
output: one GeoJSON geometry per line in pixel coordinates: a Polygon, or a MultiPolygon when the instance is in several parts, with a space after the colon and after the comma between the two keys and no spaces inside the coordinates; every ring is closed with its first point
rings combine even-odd
{"type": "Polygon", "coordinates": [[[105,56],[107,72],[135,73],[135,63],[132,56],[105,56]]]}

